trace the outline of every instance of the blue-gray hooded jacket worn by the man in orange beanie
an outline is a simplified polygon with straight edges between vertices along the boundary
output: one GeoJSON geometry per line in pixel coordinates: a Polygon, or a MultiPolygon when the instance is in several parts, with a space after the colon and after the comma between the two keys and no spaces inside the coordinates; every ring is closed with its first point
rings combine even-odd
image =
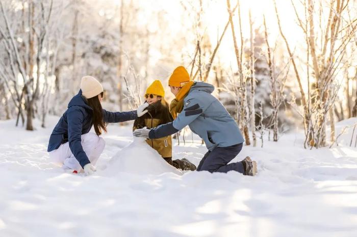
{"type": "Polygon", "coordinates": [[[214,86],[205,82],[195,82],[184,98],[184,109],[172,123],[151,129],[149,138],[159,138],[173,134],[186,125],[198,134],[212,151],[216,146],[226,147],[243,143],[243,136],[224,106],[211,93],[214,86]]]}

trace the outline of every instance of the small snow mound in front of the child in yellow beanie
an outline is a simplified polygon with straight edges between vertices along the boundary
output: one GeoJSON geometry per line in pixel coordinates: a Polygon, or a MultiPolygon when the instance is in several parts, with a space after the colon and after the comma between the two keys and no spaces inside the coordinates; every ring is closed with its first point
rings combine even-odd
{"type": "Polygon", "coordinates": [[[105,172],[113,176],[118,172],[153,174],[166,172],[182,174],[181,171],[169,165],[157,151],[152,149],[144,139],[134,137],[134,141],[124,147],[108,163],[105,172]]]}

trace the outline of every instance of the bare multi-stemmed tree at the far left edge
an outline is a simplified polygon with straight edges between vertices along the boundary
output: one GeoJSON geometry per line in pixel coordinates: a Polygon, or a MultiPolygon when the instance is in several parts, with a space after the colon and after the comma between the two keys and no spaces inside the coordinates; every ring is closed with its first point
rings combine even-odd
{"type": "Polygon", "coordinates": [[[0,34],[4,38],[2,43],[7,51],[7,57],[0,59],[2,76],[13,100],[16,98],[18,115],[21,115],[24,106],[27,115],[26,129],[34,130],[32,120],[41,96],[40,80],[44,75],[41,65],[45,58],[44,44],[48,37],[53,1],[46,4],[29,1],[28,7],[21,11],[21,24],[13,24],[17,21],[16,14],[12,13],[8,17],[6,10],[12,10],[12,5],[7,5],[8,9],[5,9],[3,1],[0,1],[0,7],[5,23],[5,29],[0,27],[0,34]],[[28,32],[23,31],[25,25],[29,28],[28,32]],[[15,83],[18,76],[22,79],[21,87],[15,83]]]}

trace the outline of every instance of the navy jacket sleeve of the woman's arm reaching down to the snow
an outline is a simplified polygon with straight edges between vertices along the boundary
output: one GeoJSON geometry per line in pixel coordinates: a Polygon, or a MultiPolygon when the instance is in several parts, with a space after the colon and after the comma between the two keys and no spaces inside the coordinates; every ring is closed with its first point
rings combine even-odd
{"type": "Polygon", "coordinates": [[[90,161],[87,154],[83,151],[82,147],[82,125],[83,125],[84,115],[81,109],[69,108],[67,111],[67,122],[68,122],[68,142],[69,149],[74,155],[75,159],[78,160],[82,168],[89,164],[90,161]]]}

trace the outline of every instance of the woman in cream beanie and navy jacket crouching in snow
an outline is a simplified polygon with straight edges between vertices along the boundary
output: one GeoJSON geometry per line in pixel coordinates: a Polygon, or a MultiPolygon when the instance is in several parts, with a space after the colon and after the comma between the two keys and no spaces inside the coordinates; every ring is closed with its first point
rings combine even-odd
{"type": "Polygon", "coordinates": [[[95,163],[104,150],[105,141],[99,137],[107,132],[107,123],[135,120],[147,112],[147,103],[137,110],[109,112],[101,107],[103,86],[94,77],[84,76],[81,90],[74,96],[49,137],[47,152],[53,162],[65,169],[95,171],[95,163]],[[94,126],[95,134],[90,133],[94,126]]]}

